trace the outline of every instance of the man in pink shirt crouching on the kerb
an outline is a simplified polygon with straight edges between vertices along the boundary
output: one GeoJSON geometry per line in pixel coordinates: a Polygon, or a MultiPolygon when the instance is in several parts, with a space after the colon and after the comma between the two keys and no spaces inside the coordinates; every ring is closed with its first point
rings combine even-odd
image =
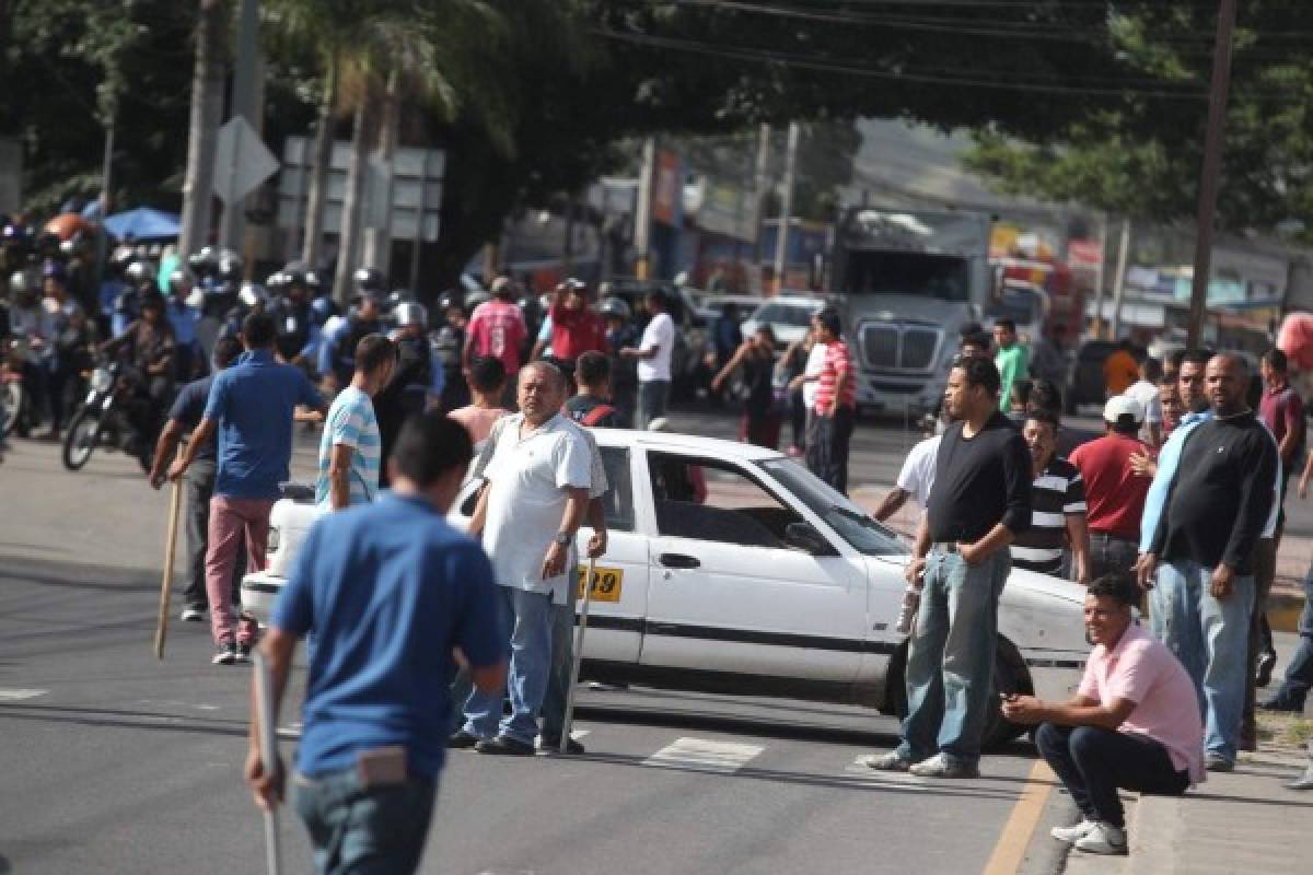
{"type": "Polygon", "coordinates": [[[1081,809],[1081,823],[1053,837],[1091,854],[1127,853],[1117,788],[1179,796],[1205,779],[1195,685],[1171,651],[1132,624],[1138,600],[1124,575],[1095,580],[1085,597],[1095,647],[1075,697],[1003,701],[1008,720],[1039,724],[1035,744],[1081,809]]]}

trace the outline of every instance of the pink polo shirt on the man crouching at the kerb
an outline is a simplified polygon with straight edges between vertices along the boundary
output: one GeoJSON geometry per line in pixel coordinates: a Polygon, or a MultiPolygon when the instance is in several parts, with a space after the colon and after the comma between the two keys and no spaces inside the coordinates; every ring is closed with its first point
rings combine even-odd
{"type": "Polygon", "coordinates": [[[1205,781],[1195,685],[1173,652],[1142,628],[1129,626],[1112,651],[1099,644],[1090,652],[1079,693],[1102,704],[1134,702],[1117,732],[1153,739],[1167,749],[1173,766],[1190,770],[1191,783],[1205,781]]]}

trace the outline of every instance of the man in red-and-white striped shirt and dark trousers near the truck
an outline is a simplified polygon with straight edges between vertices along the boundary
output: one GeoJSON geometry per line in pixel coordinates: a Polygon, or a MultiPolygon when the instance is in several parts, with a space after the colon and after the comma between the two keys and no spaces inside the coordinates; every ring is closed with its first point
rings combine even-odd
{"type": "MultiPolygon", "coordinates": [[[[825,362],[815,375],[817,395],[811,413],[815,439],[807,441],[807,468],[839,492],[848,492],[848,445],[857,418],[857,379],[852,356],[842,335],[839,314],[829,307],[811,319],[825,362]]],[[[813,379],[813,378],[809,378],[813,379]]]]}

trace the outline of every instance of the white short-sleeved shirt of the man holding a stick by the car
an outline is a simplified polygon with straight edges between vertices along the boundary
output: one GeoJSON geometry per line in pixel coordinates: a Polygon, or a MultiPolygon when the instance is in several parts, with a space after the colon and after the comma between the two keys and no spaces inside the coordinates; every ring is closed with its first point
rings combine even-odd
{"type": "Polygon", "coordinates": [[[592,485],[591,453],[578,426],[559,413],[521,438],[523,413],[499,421],[502,428],[484,475],[488,479],[483,550],[492,559],[496,582],[534,593],[551,593],[566,603],[574,563],[565,573],[542,579],[542,559],[561,530],[567,488],[592,485]]]}

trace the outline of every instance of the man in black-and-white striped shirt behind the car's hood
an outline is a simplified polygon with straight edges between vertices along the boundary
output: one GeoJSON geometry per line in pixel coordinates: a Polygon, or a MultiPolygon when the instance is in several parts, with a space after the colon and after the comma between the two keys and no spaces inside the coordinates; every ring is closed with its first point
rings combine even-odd
{"type": "Polygon", "coordinates": [[[1057,575],[1062,548],[1070,544],[1073,572],[1090,582],[1090,535],[1085,522],[1085,481],[1081,472],[1054,453],[1058,421],[1049,411],[1031,411],[1022,437],[1031,450],[1031,527],[1012,542],[1012,565],[1057,575]]]}

